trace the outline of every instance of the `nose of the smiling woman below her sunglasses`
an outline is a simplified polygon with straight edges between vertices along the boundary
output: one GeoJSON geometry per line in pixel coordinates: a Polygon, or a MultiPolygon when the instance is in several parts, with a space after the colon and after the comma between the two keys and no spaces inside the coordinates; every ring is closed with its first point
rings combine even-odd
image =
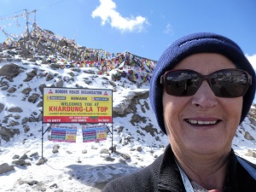
{"type": "Polygon", "coordinates": [[[192,105],[195,108],[214,108],[218,101],[207,80],[204,80],[200,88],[196,91],[195,95],[192,96],[192,105]]]}

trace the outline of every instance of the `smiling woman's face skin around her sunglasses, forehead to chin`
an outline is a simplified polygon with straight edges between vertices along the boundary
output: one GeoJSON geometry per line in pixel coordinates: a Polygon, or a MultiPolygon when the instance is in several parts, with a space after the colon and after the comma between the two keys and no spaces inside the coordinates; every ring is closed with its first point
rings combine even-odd
{"type": "MultiPolygon", "coordinates": [[[[207,75],[236,66],[223,55],[203,53],[186,57],[174,67],[178,68],[207,75]]],[[[173,149],[179,153],[230,153],[241,118],[242,97],[215,96],[204,80],[194,96],[170,96],[164,91],[163,108],[166,131],[173,149]]]]}

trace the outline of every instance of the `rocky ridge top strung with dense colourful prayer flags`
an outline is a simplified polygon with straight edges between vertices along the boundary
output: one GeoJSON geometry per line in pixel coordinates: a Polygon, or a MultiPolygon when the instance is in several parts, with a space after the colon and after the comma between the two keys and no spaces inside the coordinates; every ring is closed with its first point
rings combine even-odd
{"type": "MultiPolygon", "coordinates": [[[[16,40],[7,38],[0,44],[0,50],[4,49],[16,49],[20,57],[55,68],[97,67],[99,74],[111,72],[113,80],[124,77],[137,84],[149,83],[156,65],[156,61],[131,54],[127,50],[123,53],[109,53],[103,49],[79,46],[73,39],[55,35],[36,23],[29,34],[25,32],[16,40]]],[[[10,60],[14,56],[2,56],[0,59],[10,60]]]]}

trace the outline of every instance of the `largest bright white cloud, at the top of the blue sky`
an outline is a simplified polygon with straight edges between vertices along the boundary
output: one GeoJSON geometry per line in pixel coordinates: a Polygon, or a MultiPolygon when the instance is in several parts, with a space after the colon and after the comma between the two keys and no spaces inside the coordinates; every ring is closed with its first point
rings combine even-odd
{"type": "Polygon", "coordinates": [[[121,32],[143,32],[144,26],[149,25],[148,20],[143,16],[134,18],[123,17],[116,11],[116,5],[112,0],[100,0],[100,6],[91,14],[93,18],[100,17],[102,25],[109,23],[113,28],[121,32]]]}

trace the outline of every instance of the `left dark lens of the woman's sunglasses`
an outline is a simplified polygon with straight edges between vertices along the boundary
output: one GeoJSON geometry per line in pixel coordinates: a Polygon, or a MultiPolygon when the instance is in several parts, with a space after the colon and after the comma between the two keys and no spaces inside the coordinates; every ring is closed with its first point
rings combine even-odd
{"type": "Polygon", "coordinates": [[[166,93],[172,96],[193,96],[201,84],[200,76],[189,70],[166,73],[166,93]]]}

